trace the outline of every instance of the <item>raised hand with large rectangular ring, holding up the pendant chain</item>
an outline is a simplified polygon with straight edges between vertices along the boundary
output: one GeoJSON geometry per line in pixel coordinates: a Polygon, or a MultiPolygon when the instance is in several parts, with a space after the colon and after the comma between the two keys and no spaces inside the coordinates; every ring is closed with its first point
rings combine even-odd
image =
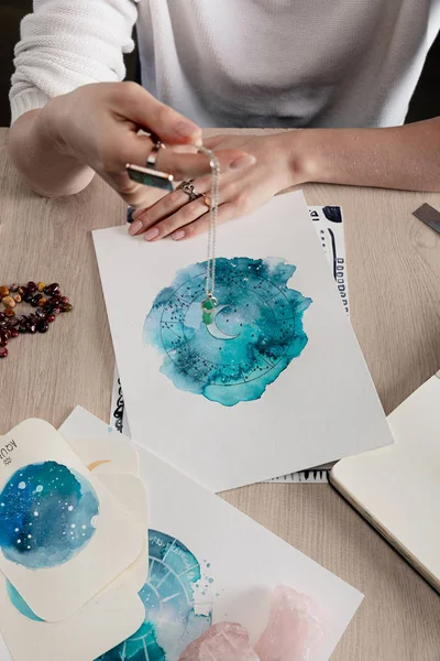
{"type": "MultiPolygon", "coordinates": [[[[127,163],[145,165],[153,147],[145,132],[170,145],[157,154],[157,170],[178,180],[209,172],[207,159],[189,148],[201,143],[201,130],[135,83],[85,85],[53,98],[14,123],[10,151],[28,183],[43,195],[77,193],[97,172],[129,205],[145,207],[157,199],[156,189],[133,182],[125,170],[127,163]]],[[[242,150],[219,152],[226,172],[243,158],[245,165],[242,150]]]]}

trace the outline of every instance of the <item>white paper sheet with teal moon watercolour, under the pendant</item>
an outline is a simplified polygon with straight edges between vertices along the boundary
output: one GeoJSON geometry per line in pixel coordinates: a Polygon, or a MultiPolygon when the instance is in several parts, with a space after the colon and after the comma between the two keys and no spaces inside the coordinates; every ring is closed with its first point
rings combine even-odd
{"type": "Polygon", "coordinates": [[[150,245],[117,227],[94,238],[143,446],[218,491],[392,442],[301,193],[219,228],[216,338],[200,319],[205,236],[150,245]],[[237,397],[250,401],[218,403],[237,397]]]}

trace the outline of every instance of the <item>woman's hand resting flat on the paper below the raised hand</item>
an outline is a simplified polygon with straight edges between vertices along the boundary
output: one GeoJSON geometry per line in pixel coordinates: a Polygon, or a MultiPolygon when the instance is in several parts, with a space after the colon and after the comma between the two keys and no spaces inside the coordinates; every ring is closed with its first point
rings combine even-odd
{"type": "MultiPolygon", "coordinates": [[[[299,131],[298,131],[299,133],[299,131]]],[[[289,133],[292,136],[293,133],[289,133]]],[[[208,149],[243,150],[255,158],[255,164],[242,170],[222,170],[220,176],[220,206],[218,221],[238,218],[267,202],[279,191],[306,181],[298,158],[293,158],[292,138],[275,136],[218,136],[204,142],[208,149]]],[[[209,196],[210,176],[193,182],[196,192],[209,196]]],[[[133,214],[131,235],[145,232],[146,240],[172,236],[187,239],[208,228],[208,207],[204,196],[188,203],[188,195],[175,191],[146,209],[133,214]]]]}

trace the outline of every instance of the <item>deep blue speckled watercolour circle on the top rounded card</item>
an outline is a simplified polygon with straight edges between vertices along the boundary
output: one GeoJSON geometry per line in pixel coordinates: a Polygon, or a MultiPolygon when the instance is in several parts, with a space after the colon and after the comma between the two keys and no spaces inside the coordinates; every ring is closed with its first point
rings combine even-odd
{"type": "Polygon", "coordinates": [[[98,497],[78,473],[57,464],[16,470],[0,494],[0,548],[28,568],[54,567],[72,560],[90,541],[98,497]]]}

